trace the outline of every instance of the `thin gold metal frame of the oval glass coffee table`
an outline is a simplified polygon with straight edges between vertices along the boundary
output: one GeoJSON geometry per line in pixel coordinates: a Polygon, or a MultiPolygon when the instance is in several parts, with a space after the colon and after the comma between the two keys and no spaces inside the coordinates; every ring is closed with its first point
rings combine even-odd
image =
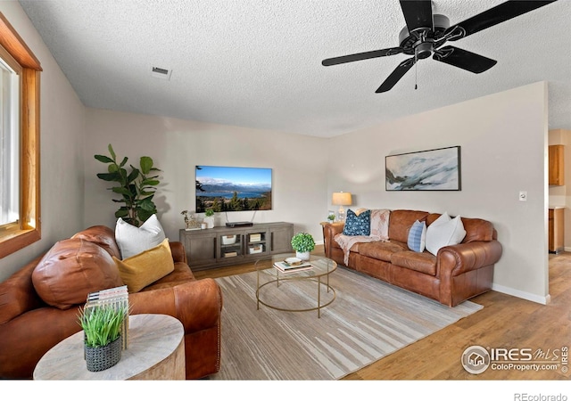
{"type": "Polygon", "coordinates": [[[321,308],[327,307],[331,305],[331,303],[336,298],[335,289],[329,284],[329,274],[332,274],[337,269],[337,263],[335,260],[331,260],[329,258],[323,257],[311,257],[310,264],[311,268],[308,270],[300,270],[294,272],[284,273],[274,267],[275,262],[282,262],[285,258],[294,257],[293,254],[281,254],[281,255],[274,255],[271,258],[262,258],[256,261],[256,308],[260,309],[260,304],[265,307],[270,307],[272,309],[281,310],[285,312],[309,312],[312,310],[318,311],[318,317],[321,317],[321,308]],[[260,283],[260,274],[268,274],[272,277],[269,282],[260,283]],[[323,281],[322,279],[325,279],[323,281]],[[308,308],[300,308],[300,309],[289,309],[284,307],[276,307],[272,305],[268,300],[264,301],[260,298],[260,291],[262,288],[269,286],[270,284],[276,283],[276,286],[279,287],[280,282],[289,282],[289,281],[301,281],[301,280],[309,280],[318,283],[318,293],[317,293],[317,306],[316,307],[308,307],[308,308]],[[328,292],[333,292],[333,298],[330,299],[327,303],[321,304],[321,286],[325,286],[328,292]]]}

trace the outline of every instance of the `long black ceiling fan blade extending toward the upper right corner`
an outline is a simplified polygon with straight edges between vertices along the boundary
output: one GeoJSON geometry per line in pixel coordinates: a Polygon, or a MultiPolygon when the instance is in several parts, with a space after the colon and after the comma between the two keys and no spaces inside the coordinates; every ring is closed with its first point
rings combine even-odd
{"type": "Polygon", "coordinates": [[[462,37],[468,37],[473,33],[479,32],[480,30],[488,29],[494,25],[497,25],[506,20],[511,20],[519,15],[525,14],[525,12],[531,12],[538,9],[544,5],[553,3],[557,0],[547,0],[547,1],[521,1],[521,0],[510,0],[502,4],[498,4],[489,10],[480,12],[474,17],[468,18],[459,24],[451,26],[446,29],[444,35],[452,32],[454,29],[463,30],[462,35],[451,37],[450,40],[458,40],[462,37]]]}

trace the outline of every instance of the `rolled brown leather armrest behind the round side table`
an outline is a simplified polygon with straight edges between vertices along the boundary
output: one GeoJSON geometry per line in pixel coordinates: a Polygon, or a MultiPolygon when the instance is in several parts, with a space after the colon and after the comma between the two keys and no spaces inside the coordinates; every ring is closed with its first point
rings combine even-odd
{"type": "Polygon", "coordinates": [[[217,326],[222,311],[222,292],[210,278],[137,292],[128,298],[132,315],[171,315],[183,324],[185,334],[217,326]]]}

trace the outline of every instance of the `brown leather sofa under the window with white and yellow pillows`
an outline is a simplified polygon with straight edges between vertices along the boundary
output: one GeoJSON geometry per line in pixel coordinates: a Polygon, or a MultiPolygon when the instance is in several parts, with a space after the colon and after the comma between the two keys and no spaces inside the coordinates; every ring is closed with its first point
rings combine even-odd
{"type": "MultiPolygon", "coordinates": [[[[89,277],[84,280],[86,274],[103,272],[106,274],[103,280],[107,282],[110,277],[116,277],[112,272],[112,256],[120,258],[120,251],[112,229],[103,225],[87,228],[69,240],[59,241],[52,250],[58,244],[57,251],[50,250],[46,256],[0,282],[2,378],[31,378],[37,362],[50,348],[80,330],[78,307],[85,303],[90,292],[87,290],[91,290],[83,285],[90,282],[89,277]],[[75,297],[78,305],[54,307],[40,298],[32,275],[39,264],[63,266],[63,263],[80,266],[74,266],[73,274],[60,274],[57,285],[49,290],[65,291],[59,295],[68,299],[75,297]]],[[[182,243],[170,242],[170,250],[174,271],[142,291],[129,294],[131,314],[164,314],[178,318],[185,330],[186,379],[199,379],[219,371],[222,294],[214,280],[194,278],[182,243]]],[[[58,274],[57,269],[53,271],[58,274]]],[[[54,293],[54,297],[57,295],[54,293]]]]}

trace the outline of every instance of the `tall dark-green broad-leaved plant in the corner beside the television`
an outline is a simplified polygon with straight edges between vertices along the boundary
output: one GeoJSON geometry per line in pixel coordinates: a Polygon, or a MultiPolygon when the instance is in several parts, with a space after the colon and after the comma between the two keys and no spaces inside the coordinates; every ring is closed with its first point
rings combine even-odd
{"type": "Polygon", "coordinates": [[[125,168],[128,158],[125,157],[118,163],[111,143],[107,149],[111,157],[102,154],[95,155],[96,160],[108,164],[107,173],[99,173],[97,176],[103,181],[117,183],[117,185],[108,188],[121,196],[120,199],[112,201],[124,203],[115,212],[115,217],[121,217],[127,223],[138,227],[157,212],[153,196],[160,181],[159,176],[151,175],[161,170],[153,167],[153,159],[143,156],[139,160],[140,168],[129,165],[130,171],[128,171],[125,168]]]}

